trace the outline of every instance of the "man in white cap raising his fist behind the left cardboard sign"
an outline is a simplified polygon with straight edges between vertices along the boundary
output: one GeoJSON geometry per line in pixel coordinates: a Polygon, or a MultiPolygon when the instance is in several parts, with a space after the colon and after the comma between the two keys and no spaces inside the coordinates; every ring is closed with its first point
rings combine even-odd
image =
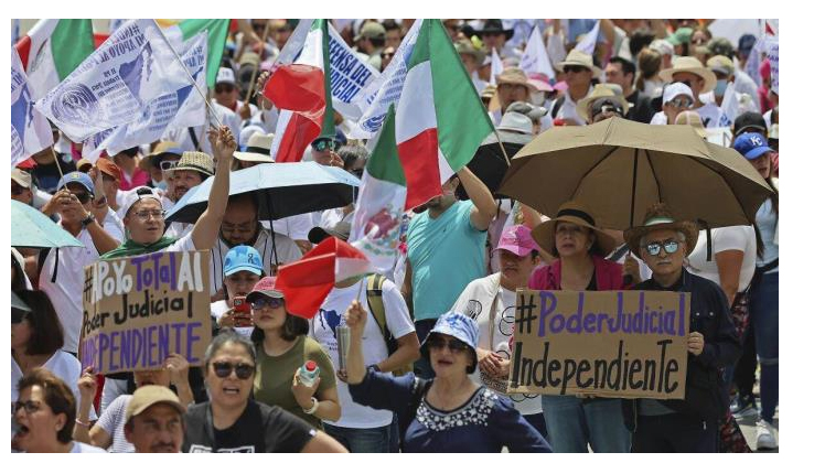
{"type": "Polygon", "coordinates": [[[218,130],[210,131],[210,143],[221,169],[215,173],[206,211],[201,214],[192,232],[178,240],[163,236],[164,211],[161,197],[153,190],[141,187],[131,192],[119,209],[119,214],[124,217],[127,241],[101,256],[103,259],[139,256],[162,249],[168,251],[210,249],[215,245],[221,222],[226,213],[229,192],[228,166],[232,165],[232,155],[237,142],[229,128],[222,126],[218,130]]]}

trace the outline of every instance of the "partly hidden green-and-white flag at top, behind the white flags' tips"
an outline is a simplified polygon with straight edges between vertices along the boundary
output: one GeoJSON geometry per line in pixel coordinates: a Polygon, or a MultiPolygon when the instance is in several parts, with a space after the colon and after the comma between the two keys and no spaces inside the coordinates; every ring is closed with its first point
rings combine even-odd
{"type": "Polygon", "coordinates": [[[227,19],[188,19],[180,22],[168,20],[156,20],[164,29],[164,34],[170,44],[175,49],[185,50],[183,43],[191,41],[202,31],[208,34],[206,46],[206,85],[215,86],[217,78],[217,69],[221,67],[221,58],[223,58],[223,49],[226,46],[226,36],[229,32],[229,22],[227,19]]]}

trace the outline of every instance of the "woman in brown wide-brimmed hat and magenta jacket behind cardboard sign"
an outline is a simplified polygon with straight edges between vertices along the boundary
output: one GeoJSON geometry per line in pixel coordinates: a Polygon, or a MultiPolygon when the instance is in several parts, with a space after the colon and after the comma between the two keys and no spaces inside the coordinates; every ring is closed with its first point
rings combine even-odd
{"type": "MultiPolygon", "coordinates": [[[[593,214],[583,205],[569,202],[557,216],[538,225],[534,239],[557,257],[539,267],[528,280],[537,290],[612,291],[623,289],[622,266],[603,259],[615,243],[602,232],[593,214]]],[[[543,396],[548,440],[555,452],[628,452],[630,432],[624,426],[620,399],[543,396]]]]}

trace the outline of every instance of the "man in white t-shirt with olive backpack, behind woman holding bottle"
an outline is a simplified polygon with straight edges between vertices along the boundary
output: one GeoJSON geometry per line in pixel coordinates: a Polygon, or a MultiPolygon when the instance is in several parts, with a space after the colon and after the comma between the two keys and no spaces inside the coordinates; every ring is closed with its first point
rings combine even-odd
{"type": "MultiPolygon", "coordinates": [[[[361,281],[357,279],[340,281],[334,284],[311,322],[310,331],[311,337],[317,340],[331,356],[336,368],[336,377],[340,379],[336,388],[342,403],[342,417],[336,422],[325,421],[325,432],[354,453],[387,453],[393,449],[392,433],[397,432],[392,411],[374,410],[353,401],[347,390],[347,383],[345,383],[345,372],[340,369],[336,327],[344,323],[343,315],[356,299],[362,302],[366,311],[372,313],[368,305],[369,298],[366,295],[369,288],[368,280],[374,278],[377,276],[368,276],[361,281]]],[[[365,362],[369,365],[368,368],[387,373],[418,359],[418,336],[410,321],[407,303],[396,284],[381,278],[381,288],[374,288],[374,290],[381,290],[385,324],[398,343],[398,348],[393,354],[388,354],[387,343],[378,323],[367,323],[362,337],[362,352],[365,362]]]]}

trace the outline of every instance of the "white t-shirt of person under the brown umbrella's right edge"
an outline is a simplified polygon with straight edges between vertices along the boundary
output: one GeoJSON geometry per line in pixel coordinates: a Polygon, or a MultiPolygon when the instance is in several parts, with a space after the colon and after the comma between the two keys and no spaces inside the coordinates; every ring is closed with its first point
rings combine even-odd
{"type": "Polygon", "coordinates": [[[725,250],[741,250],[743,251],[743,261],[740,265],[738,292],[746,290],[749,281],[752,279],[752,274],[754,274],[754,266],[758,259],[754,228],[748,225],[738,225],[733,227],[713,228],[710,232],[713,235],[711,260],[707,261],[707,233],[701,229],[698,232],[698,243],[695,245],[695,249],[687,256],[689,260],[687,270],[690,273],[720,284],[720,274],[718,273],[715,255],[725,250]]]}

